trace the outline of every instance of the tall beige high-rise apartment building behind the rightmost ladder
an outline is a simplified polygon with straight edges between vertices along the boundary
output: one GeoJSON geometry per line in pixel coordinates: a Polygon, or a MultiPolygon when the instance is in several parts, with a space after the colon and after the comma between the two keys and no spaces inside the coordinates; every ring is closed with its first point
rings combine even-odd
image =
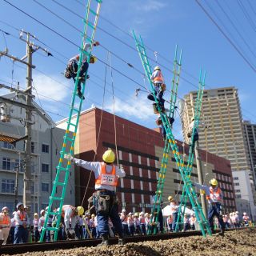
{"type": "MultiPolygon", "coordinates": [[[[192,91],[182,102],[182,130],[186,142],[196,98],[197,91],[192,91]]],[[[232,170],[250,170],[237,89],[204,90],[200,121],[200,148],[229,159],[232,170]]]]}

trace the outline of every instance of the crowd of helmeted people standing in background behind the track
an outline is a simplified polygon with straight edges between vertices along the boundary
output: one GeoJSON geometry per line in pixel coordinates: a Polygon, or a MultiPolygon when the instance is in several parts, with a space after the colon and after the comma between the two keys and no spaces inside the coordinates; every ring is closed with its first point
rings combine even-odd
{"type": "MultiPolygon", "coordinates": [[[[82,206],[63,206],[62,221],[60,224],[58,232],[58,240],[66,240],[67,238],[74,239],[86,239],[86,238],[100,238],[98,232],[98,220],[97,215],[90,214],[89,212],[83,213],[83,209],[79,208],[82,206]],[[65,219],[65,210],[73,209],[74,213],[76,209],[80,210],[78,214],[69,215],[65,219]],[[72,223],[73,222],[73,223],[72,223]],[[74,235],[70,237],[70,234],[73,234],[72,226],[74,225],[74,235]]],[[[47,210],[47,208],[46,208],[47,210]]],[[[42,234],[42,227],[45,223],[45,214],[46,210],[40,211],[40,216],[37,213],[34,213],[34,218],[30,220],[27,214],[27,207],[22,203],[18,203],[17,211],[12,213],[12,218],[10,218],[10,213],[7,207],[2,208],[2,213],[0,214],[0,240],[4,240],[3,244],[8,243],[24,243],[29,242],[29,235],[32,234],[34,242],[40,240],[42,234]]],[[[174,222],[175,214],[170,214],[165,221],[164,232],[174,232],[175,225],[174,222]]],[[[54,218],[48,218],[47,226],[56,226],[56,221],[54,218]]],[[[150,218],[151,214],[144,213],[143,211],[138,213],[126,213],[126,210],[123,209],[119,213],[120,220],[122,222],[122,233],[123,236],[134,236],[138,234],[146,235],[150,228],[150,218]]],[[[238,211],[230,214],[222,215],[222,220],[224,222],[225,228],[239,228],[242,226],[250,225],[250,218],[244,212],[242,215],[239,215],[238,211]]],[[[176,219],[177,221],[177,219],[176,219]]],[[[198,230],[196,217],[194,214],[184,214],[183,223],[179,223],[178,231],[187,231],[187,230],[198,230]]],[[[109,226],[109,236],[114,237],[116,232],[114,225],[111,222],[110,218],[108,220],[109,226]]],[[[214,226],[218,228],[218,218],[214,219],[214,226]]],[[[158,231],[160,223],[158,223],[158,231]]],[[[44,242],[54,241],[53,231],[46,231],[44,242]]]]}

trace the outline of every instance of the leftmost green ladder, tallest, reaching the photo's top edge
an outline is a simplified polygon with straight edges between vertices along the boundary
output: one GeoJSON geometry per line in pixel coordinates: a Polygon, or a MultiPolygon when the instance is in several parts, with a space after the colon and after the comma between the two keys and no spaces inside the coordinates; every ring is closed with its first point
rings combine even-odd
{"type": "MultiPolygon", "coordinates": [[[[62,150],[60,152],[60,158],[57,166],[57,174],[53,184],[53,190],[50,195],[50,201],[48,210],[46,211],[45,223],[42,228],[42,234],[40,237],[40,242],[43,242],[46,231],[54,231],[54,241],[58,239],[58,230],[61,222],[61,215],[62,215],[62,206],[65,199],[66,194],[66,186],[69,180],[70,175],[70,166],[71,162],[64,158],[65,154],[74,155],[74,142],[78,130],[78,122],[80,118],[80,112],[82,108],[82,97],[79,98],[77,94],[77,87],[78,87],[78,77],[79,77],[79,70],[82,66],[82,60],[87,59],[87,62],[90,63],[90,56],[92,50],[92,44],[94,42],[94,35],[96,31],[96,27],[98,24],[98,17],[99,11],[101,8],[102,0],[88,0],[86,6],[86,18],[83,20],[84,22],[84,32],[82,34],[82,46],[79,48],[80,51],[80,58],[78,62],[78,72],[74,86],[74,93],[72,97],[72,102],[70,106],[70,116],[67,121],[67,128],[66,134],[64,136],[62,150]],[[95,10],[95,11],[94,11],[95,10]],[[88,36],[90,34],[90,36],[88,36]],[[89,50],[85,50],[86,43],[90,43],[89,50]],[[77,116],[75,122],[72,122],[74,115],[77,116]],[[58,195],[57,190],[60,188],[62,190],[61,196],[58,195]],[[58,206],[58,210],[53,210],[53,206],[58,206]],[[54,216],[56,221],[56,226],[47,226],[48,218],[50,215],[54,216]]],[[[86,71],[85,77],[87,76],[88,69],[86,71]]],[[[86,79],[85,82],[82,83],[82,95],[85,92],[86,88],[86,79]]]]}

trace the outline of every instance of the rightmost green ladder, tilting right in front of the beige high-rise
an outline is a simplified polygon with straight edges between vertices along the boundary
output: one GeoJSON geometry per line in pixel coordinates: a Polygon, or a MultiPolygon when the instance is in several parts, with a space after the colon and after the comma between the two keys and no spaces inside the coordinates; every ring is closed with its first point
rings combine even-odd
{"type": "MultiPolygon", "coordinates": [[[[198,83],[198,94],[196,98],[196,106],[194,109],[194,127],[192,130],[191,134],[191,143],[190,143],[190,150],[189,150],[189,158],[187,160],[187,166],[186,166],[186,175],[190,176],[192,169],[193,169],[193,164],[194,164],[194,132],[195,130],[198,129],[199,122],[200,122],[200,116],[201,116],[201,110],[202,110],[202,95],[203,95],[203,90],[205,87],[205,78],[206,78],[206,73],[204,73],[203,78],[202,78],[202,70],[200,70],[200,75],[199,75],[199,83],[198,83]]],[[[177,222],[175,225],[175,232],[179,230],[179,226],[183,224],[183,219],[184,219],[184,214],[186,210],[186,202],[187,202],[188,194],[185,190],[185,187],[183,186],[182,189],[182,198],[180,202],[180,207],[178,209],[178,218],[177,222]]]]}

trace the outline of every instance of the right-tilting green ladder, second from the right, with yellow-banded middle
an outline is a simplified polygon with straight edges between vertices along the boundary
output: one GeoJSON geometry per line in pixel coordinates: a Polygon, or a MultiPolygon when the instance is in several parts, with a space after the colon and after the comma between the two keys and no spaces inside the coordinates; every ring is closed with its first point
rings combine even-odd
{"type": "MultiPolygon", "coordinates": [[[[175,55],[174,55],[174,68],[173,68],[173,79],[172,79],[172,88],[170,91],[170,112],[169,112],[169,120],[172,118],[174,120],[174,111],[176,109],[176,100],[178,93],[178,83],[180,78],[181,66],[182,66],[182,50],[180,51],[179,60],[177,59],[177,50],[178,46],[175,47],[175,55]]],[[[161,210],[161,202],[162,202],[162,191],[166,179],[166,167],[168,164],[168,158],[170,153],[170,143],[168,143],[168,139],[165,140],[165,147],[162,154],[162,162],[161,168],[158,174],[158,185],[157,191],[154,196],[153,208],[151,210],[151,217],[149,228],[147,230],[148,234],[157,234],[158,232],[158,219],[159,212],[161,210]]]]}

